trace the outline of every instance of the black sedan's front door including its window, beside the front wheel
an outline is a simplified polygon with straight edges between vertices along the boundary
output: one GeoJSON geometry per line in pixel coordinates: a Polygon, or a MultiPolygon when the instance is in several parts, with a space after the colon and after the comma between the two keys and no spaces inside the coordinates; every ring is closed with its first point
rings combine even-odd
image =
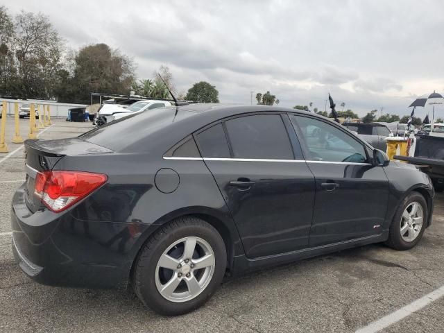
{"type": "Polygon", "coordinates": [[[368,163],[364,144],[330,121],[302,115],[291,120],[316,178],[310,246],[381,234],[388,179],[382,167],[368,163]]]}

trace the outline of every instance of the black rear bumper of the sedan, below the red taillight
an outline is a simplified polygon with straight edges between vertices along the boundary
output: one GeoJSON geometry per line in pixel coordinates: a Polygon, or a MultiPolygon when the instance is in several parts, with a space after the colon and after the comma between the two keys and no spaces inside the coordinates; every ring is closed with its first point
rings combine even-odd
{"type": "Polygon", "coordinates": [[[21,187],[11,209],[12,252],[19,267],[41,284],[126,288],[137,235],[128,223],[80,221],[49,210],[32,213],[21,187]]]}

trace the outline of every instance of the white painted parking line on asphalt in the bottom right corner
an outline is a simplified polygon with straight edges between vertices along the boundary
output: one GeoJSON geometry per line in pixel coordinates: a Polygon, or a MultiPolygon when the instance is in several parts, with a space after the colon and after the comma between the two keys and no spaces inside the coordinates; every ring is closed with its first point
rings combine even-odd
{"type": "Polygon", "coordinates": [[[426,307],[430,303],[438,300],[438,298],[441,298],[443,296],[444,286],[432,291],[431,293],[428,293],[426,296],[419,298],[418,300],[414,300],[409,305],[406,305],[405,307],[402,307],[401,309],[396,310],[395,312],[392,312],[391,314],[388,314],[387,316],[382,317],[377,321],[373,321],[373,323],[368,324],[366,327],[359,328],[359,330],[357,330],[355,333],[379,332],[380,330],[383,330],[384,328],[394,323],[398,323],[398,321],[407,316],[410,316],[411,314],[413,314],[413,312],[426,307]]]}

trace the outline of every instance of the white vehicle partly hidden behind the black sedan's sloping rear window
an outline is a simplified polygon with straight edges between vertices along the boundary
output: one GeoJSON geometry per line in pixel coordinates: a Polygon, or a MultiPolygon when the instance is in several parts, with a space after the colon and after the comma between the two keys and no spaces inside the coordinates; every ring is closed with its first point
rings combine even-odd
{"type": "Polygon", "coordinates": [[[165,106],[171,106],[172,104],[167,101],[157,101],[153,99],[146,99],[144,101],[138,101],[129,105],[126,108],[121,108],[115,104],[105,105],[99,110],[99,116],[104,116],[106,123],[111,121],[128,117],[131,114],[144,112],[145,110],[151,110],[155,108],[164,108],[165,106]]]}

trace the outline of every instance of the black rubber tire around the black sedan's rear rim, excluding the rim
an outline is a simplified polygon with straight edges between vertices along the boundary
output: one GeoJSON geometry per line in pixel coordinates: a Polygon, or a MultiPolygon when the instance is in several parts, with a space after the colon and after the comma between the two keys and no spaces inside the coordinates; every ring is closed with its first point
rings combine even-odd
{"type": "Polygon", "coordinates": [[[158,314],[178,316],[202,306],[222,282],[227,264],[225,244],[219,232],[202,219],[192,216],[175,219],[146,241],[139,252],[133,273],[133,288],[137,297],[158,314]],[[199,237],[210,244],[214,252],[214,273],[207,287],[198,296],[185,302],[172,302],[164,298],[157,290],[155,274],[160,256],[169,246],[185,237],[199,237]]]}

